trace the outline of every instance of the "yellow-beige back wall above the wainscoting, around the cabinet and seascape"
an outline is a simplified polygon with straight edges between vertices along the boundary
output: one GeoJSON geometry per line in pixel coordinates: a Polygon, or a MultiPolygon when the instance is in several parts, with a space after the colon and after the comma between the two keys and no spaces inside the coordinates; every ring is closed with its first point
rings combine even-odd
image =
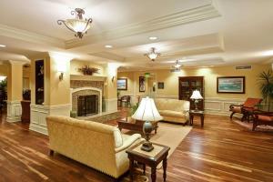
{"type": "MultiPolygon", "coordinates": [[[[234,66],[208,67],[208,68],[185,68],[181,72],[170,73],[169,70],[155,70],[157,82],[164,82],[164,89],[157,89],[157,96],[178,96],[178,76],[204,76],[205,97],[239,98],[248,96],[261,97],[258,88],[258,74],[270,69],[268,65],[254,65],[251,70],[236,70],[234,66]],[[217,94],[217,76],[246,76],[246,94],[217,94]]],[[[121,72],[118,77],[128,78],[128,90],[121,91],[121,95],[132,94],[136,84],[138,94],[138,76],[144,72],[121,72]]]]}

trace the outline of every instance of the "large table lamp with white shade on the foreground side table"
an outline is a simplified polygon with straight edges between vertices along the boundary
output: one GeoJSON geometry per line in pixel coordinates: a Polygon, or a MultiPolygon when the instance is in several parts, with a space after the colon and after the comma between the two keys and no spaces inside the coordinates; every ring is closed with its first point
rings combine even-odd
{"type": "Polygon", "coordinates": [[[145,121],[143,124],[143,133],[145,134],[146,142],[143,143],[141,149],[144,151],[151,151],[154,149],[150,140],[150,133],[153,130],[151,121],[162,120],[162,116],[159,115],[157,107],[155,105],[154,99],[149,98],[148,96],[141,99],[140,105],[136,109],[135,114],[132,118],[145,121]]]}

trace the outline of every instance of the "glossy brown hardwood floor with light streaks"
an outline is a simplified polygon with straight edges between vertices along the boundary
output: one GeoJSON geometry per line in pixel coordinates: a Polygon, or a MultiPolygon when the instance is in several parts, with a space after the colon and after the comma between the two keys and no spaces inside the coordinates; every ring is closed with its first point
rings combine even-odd
{"type": "MultiPolygon", "coordinates": [[[[273,133],[248,131],[228,116],[207,115],[204,128],[199,120],[194,124],[168,159],[167,181],[273,181],[273,133]]],[[[47,136],[29,131],[28,125],[6,123],[0,115],[1,182],[114,181],[67,157],[49,157],[48,152],[47,136]]],[[[157,181],[162,180],[159,170],[157,181]]]]}

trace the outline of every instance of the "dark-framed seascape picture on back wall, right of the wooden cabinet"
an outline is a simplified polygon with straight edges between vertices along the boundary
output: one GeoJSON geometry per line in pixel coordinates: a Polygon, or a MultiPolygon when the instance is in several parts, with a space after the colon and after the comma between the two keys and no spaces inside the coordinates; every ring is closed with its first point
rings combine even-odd
{"type": "Polygon", "coordinates": [[[217,77],[217,93],[245,94],[245,76],[217,77]]]}

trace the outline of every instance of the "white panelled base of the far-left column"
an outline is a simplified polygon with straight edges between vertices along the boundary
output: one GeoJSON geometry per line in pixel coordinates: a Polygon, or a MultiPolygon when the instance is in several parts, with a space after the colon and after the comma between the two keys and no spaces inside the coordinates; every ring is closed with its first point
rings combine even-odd
{"type": "Polygon", "coordinates": [[[6,121],[13,123],[21,121],[22,106],[20,101],[7,101],[6,102],[6,121]]]}

